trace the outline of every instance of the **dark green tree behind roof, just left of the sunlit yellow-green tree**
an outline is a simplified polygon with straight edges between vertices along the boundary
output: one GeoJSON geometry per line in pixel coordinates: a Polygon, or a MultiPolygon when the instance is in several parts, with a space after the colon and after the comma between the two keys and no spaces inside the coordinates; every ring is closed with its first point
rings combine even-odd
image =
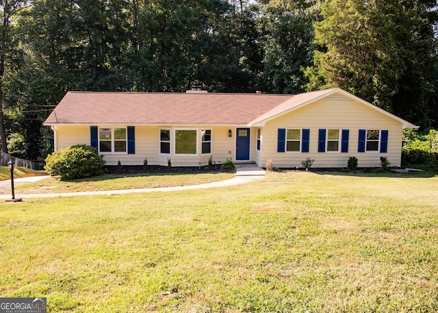
{"type": "Polygon", "coordinates": [[[320,20],[321,1],[267,2],[259,18],[265,32],[261,86],[266,92],[302,92],[307,84],[302,68],[313,64],[313,25],[320,20]]]}

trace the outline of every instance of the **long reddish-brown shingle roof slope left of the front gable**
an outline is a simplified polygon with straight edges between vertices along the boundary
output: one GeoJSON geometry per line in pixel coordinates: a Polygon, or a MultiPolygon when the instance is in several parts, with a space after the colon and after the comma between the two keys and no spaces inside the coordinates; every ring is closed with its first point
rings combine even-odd
{"type": "Polygon", "coordinates": [[[46,124],[246,125],[291,95],[68,92],[46,124]]]}

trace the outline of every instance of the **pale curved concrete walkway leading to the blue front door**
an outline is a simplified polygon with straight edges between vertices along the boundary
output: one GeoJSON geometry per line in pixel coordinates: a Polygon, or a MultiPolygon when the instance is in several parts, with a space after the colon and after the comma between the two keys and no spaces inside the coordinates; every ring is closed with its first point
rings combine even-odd
{"type": "MultiPolygon", "coordinates": [[[[236,168],[237,168],[236,176],[231,179],[214,181],[212,183],[201,184],[201,185],[129,189],[129,190],[102,190],[102,191],[85,191],[85,192],[46,193],[46,194],[33,194],[33,195],[20,195],[18,192],[15,192],[15,197],[25,199],[25,198],[53,198],[53,197],[75,197],[75,196],[92,196],[92,195],[109,196],[109,195],[123,195],[133,192],[166,192],[166,191],[217,188],[217,187],[234,186],[237,184],[246,184],[251,181],[262,179],[266,175],[266,171],[264,171],[263,168],[259,168],[255,164],[239,164],[236,165],[236,168]]],[[[40,176],[40,179],[44,179],[44,178],[47,178],[47,176],[40,176]]],[[[16,184],[16,181],[19,181],[20,179],[21,178],[14,179],[14,184],[16,184]]],[[[36,180],[32,180],[32,181],[36,181],[36,180]]],[[[10,186],[10,181],[9,181],[9,186],[10,186]]],[[[11,195],[0,195],[0,199],[11,199],[11,195]]]]}

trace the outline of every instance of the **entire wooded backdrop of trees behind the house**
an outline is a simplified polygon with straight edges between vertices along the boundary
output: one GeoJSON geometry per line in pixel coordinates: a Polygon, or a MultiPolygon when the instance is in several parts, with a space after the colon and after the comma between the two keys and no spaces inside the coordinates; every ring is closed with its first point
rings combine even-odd
{"type": "Polygon", "coordinates": [[[29,159],[51,151],[42,121],[68,90],[339,86],[438,125],[433,0],[3,0],[0,10],[2,149],[29,159]]]}

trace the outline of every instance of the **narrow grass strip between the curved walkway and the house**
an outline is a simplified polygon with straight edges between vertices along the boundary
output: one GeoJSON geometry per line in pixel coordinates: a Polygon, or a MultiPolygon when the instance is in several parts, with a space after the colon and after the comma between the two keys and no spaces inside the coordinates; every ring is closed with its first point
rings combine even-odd
{"type": "MultiPolygon", "coordinates": [[[[101,175],[73,181],[60,181],[49,177],[36,183],[16,186],[22,195],[51,192],[80,192],[99,190],[125,190],[140,188],[175,187],[205,184],[234,177],[235,173],[154,173],[142,175],[101,175]]],[[[3,190],[3,194],[8,190],[3,190]]]]}

